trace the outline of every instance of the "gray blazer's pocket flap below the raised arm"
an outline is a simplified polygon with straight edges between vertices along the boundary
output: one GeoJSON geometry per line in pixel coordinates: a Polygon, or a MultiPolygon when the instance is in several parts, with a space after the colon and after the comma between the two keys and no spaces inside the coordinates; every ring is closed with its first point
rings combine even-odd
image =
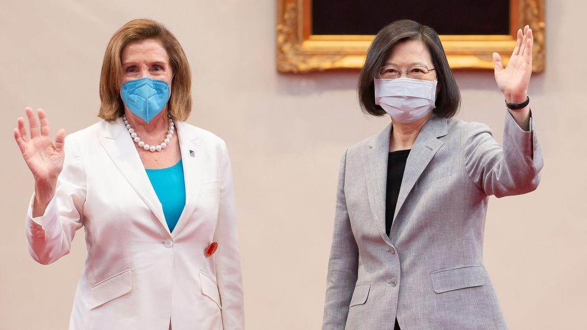
{"type": "Polygon", "coordinates": [[[485,284],[485,273],[479,265],[461,266],[431,272],[434,292],[480,287],[485,284]]]}

